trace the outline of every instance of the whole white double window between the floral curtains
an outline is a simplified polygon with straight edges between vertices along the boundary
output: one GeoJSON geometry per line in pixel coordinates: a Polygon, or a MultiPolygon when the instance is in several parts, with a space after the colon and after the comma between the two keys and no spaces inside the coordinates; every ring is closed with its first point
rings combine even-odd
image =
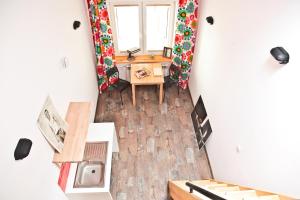
{"type": "Polygon", "coordinates": [[[110,20],[117,55],[140,48],[139,54],[161,54],[164,46],[171,47],[174,36],[175,1],[111,0],[110,20]]]}

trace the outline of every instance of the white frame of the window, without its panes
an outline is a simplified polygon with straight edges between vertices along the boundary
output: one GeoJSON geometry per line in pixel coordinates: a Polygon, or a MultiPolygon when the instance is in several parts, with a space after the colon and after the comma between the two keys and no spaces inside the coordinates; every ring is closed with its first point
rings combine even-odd
{"type": "Polygon", "coordinates": [[[111,28],[113,32],[114,38],[114,47],[115,54],[117,56],[127,55],[126,51],[120,51],[118,48],[117,41],[117,27],[115,21],[115,7],[117,6],[138,6],[139,7],[139,45],[141,51],[136,53],[135,55],[160,55],[163,52],[162,50],[148,50],[147,49],[147,35],[146,35],[146,7],[147,6],[170,6],[169,12],[169,27],[168,27],[168,45],[172,47],[174,44],[174,34],[175,34],[175,18],[176,18],[176,10],[178,8],[177,0],[109,0],[107,2],[108,13],[110,17],[111,28]],[[145,38],[145,39],[144,39],[145,38]]]}

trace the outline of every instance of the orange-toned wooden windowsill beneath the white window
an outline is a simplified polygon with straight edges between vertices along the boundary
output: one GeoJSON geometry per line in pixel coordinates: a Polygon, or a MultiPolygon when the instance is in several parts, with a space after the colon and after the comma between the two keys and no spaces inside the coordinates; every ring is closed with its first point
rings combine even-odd
{"type": "Polygon", "coordinates": [[[155,55],[152,58],[150,55],[139,55],[135,56],[135,60],[128,61],[128,56],[115,56],[116,64],[131,64],[131,63],[162,63],[162,62],[171,62],[171,58],[165,58],[161,55],[155,55]]]}

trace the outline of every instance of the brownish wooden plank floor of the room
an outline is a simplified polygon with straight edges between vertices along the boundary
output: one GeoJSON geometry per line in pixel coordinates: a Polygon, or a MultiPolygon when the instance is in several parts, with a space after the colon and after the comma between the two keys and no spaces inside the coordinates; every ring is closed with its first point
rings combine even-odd
{"type": "Polygon", "coordinates": [[[137,87],[136,107],[131,89],[99,95],[95,122],[113,121],[120,152],[112,163],[114,200],[166,200],[168,180],[211,178],[204,150],[199,151],[190,117],[188,91],[172,87],[158,104],[155,86],[137,87]]]}

